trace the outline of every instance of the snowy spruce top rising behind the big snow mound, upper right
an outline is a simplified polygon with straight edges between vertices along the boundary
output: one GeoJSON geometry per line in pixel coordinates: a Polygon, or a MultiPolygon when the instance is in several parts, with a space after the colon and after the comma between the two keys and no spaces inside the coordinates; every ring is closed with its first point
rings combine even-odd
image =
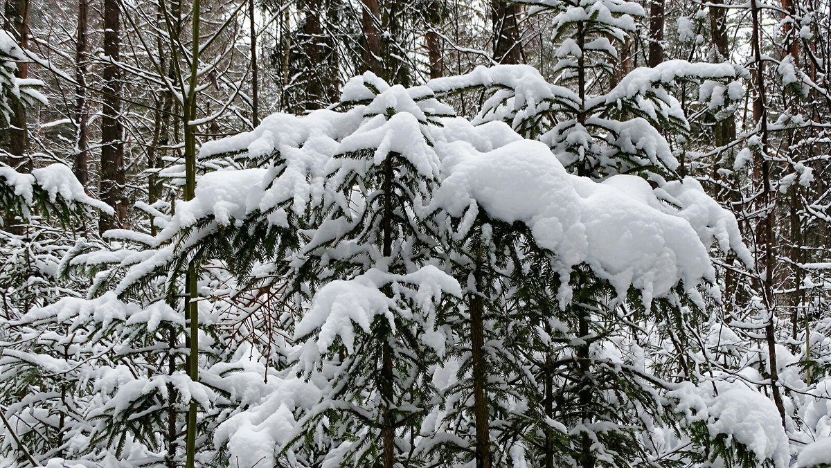
{"type": "Polygon", "coordinates": [[[553,14],[558,41],[557,72],[548,83],[534,67],[478,67],[463,76],[431,80],[440,96],[470,89],[486,91],[475,123],[505,121],[520,135],[540,140],[578,175],[672,175],[679,170],[667,139],[686,135],[689,126],[671,94],[681,81],[700,83],[700,99],[717,111],[730,111],[743,98],[728,64],[674,60],[640,67],[612,79],[616,46],[644,14],[636,2],[545,2],[532,11],[553,14]]]}

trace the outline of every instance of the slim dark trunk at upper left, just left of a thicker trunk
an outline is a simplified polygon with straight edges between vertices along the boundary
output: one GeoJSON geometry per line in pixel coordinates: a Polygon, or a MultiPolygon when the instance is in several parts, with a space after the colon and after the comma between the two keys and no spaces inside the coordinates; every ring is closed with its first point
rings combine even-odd
{"type": "Polygon", "coordinates": [[[78,32],[75,42],[75,125],[76,149],[73,172],[87,188],[90,180],[89,143],[86,136],[86,43],[87,0],[78,0],[78,32]]]}

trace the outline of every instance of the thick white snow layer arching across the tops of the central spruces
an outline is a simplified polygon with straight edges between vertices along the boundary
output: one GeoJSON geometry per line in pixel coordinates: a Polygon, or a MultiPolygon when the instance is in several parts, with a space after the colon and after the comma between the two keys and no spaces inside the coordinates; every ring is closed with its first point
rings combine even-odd
{"type": "MultiPolygon", "coordinates": [[[[487,74],[479,69],[475,73],[482,74],[481,80],[516,77],[507,69],[494,68],[487,74]]],[[[714,68],[699,72],[729,72],[729,67],[714,68]]],[[[668,79],[664,75],[686,72],[690,71],[685,67],[674,71],[665,67],[659,75],[668,79]]],[[[356,79],[352,97],[368,98],[357,86],[371,78],[367,74],[356,79]]],[[[656,78],[644,81],[651,79],[656,78]]],[[[640,85],[630,80],[618,89],[629,86],[640,85]]],[[[337,187],[327,183],[327,173],[337,166],[332,164],[336,155],[375,148],[374,164],[396,150],[422,174],[439,180],[433,200],[425,200],[425,205],[453,216],[462,216],[469,208],[484,209],[492,219],[523,222],[539,246],[554,254],[563,278],[573,266],[585,263],[620,294],[631,286],[639,289],[647,304],[666,296],[679,282],[689,291],[701,280],[713,282],[708,249],[714,240],[720,249],[733,249],[745,263],[752,263],[735,218],[695,180],[671,182],[657,190],[632,176],[597,183],[568,174],[559,162],[566,156],[554,155],[547,145],[524,140],[498,122],[474,126],[460,117],[443,117],[443,126],[429,126],[432,141],[425,144],[428,136],[418,128],[425,118],[420,106],[435,100],[419,96],[420,101],[415,101],[412,93],[429,92],[422,88],[387,86],[368,106],[347,112],[276,114],[254,131],[205,145],[203,158],[222,151],[249,157],[277,153],[278,157],[267,170],[223,170],[203,176],[196,198],[177,205],[174,219],[160,237],[170,239],[182,226],[204,216],[228,224],[255,209],[265,211],[287,201],[302,214],[324,197],[337,199],[337,187]],[[394,115],[379,115],[392,105],[394,115]]],[[[525,97],[544,99],[550,93],[547,85],[546,90],[529,91],[525,97]]],[[[269,221],[285,226],[286,214],[277,210],[269,214],[269,221]]],[[[570,300],[567,286],[559,299],[570,300]]]]}

